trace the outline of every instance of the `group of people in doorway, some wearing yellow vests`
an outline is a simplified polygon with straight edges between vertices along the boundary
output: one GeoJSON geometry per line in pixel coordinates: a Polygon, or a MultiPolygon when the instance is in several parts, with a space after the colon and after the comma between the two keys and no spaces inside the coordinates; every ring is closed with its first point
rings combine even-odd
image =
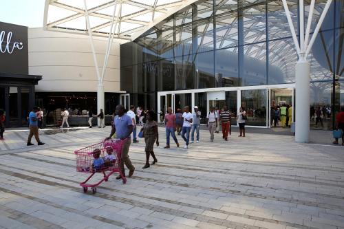
{"type": "Polygon", "coordinates": [[[272,105],[270,109],[271,117],[271,127],[279,125],[281,122],[281,127],[290,127],[292,124],[292,106],[287,104],[282,104],[281,106],[272,105]]]}

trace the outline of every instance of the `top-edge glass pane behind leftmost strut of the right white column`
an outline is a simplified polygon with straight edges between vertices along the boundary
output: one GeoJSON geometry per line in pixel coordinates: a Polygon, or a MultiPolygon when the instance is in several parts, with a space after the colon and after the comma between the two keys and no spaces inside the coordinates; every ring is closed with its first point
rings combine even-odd
{"type": "MultiPolygon", "coordinates": [[[[292,19],[297,19],[298,1],[288,0],[288,8],[292,19]]],[[[307,18],[305,18],[307,21],[307,18]]],[[[298,34],[297,20],[292,20],[294,30],[298,34]]],[[[283,8],[282,1],[268,2],[268,37],[269,40],[279,39],[286,36],[292,36],[290,33],[289,24],[286,17],[286,12],[283,8]]]]}

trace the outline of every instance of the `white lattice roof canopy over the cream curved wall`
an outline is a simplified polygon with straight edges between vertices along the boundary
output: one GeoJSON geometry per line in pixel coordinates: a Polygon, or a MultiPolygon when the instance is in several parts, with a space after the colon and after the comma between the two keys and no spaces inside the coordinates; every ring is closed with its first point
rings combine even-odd
{"type": "MultiPolygon", "coordinates": [[[[86,0],[86,6],[94,36],[109,36],[114,19],[114,38],[132,40],[193,2],[195,0],[86,0]]],[[[85,15],[83,0],[45,0],[44,28],[87,34],[85,15]]]]}

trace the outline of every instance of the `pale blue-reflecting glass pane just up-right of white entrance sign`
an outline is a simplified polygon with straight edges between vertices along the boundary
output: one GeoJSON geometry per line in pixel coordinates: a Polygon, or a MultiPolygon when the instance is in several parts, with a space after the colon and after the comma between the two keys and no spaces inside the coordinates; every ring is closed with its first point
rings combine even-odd
{"type": "Polygon", "coordinates": [[[237,47],[215,51],[216,87],[239,85],[239,59],[237,47]]]}

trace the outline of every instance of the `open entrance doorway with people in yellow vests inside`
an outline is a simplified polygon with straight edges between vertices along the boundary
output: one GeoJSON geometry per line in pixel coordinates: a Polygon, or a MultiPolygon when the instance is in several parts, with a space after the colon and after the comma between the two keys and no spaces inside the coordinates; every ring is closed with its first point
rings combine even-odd
{"type": "MultiPolygon", "coordinates": [[[[275,88],[269,89],[269,122],[268,127],[282,127],[281,107],[286,106],[287,109],[294,107],[294,89],[292,88],[275,88]],[[279,117],[275,118],[275,115],[279,113],[279,117]]],[[[288,110],[286,116],[286,127],[288,127],[294,121],[294,112],[292,112],[292,118],[288,117],[288,110]]]]}

